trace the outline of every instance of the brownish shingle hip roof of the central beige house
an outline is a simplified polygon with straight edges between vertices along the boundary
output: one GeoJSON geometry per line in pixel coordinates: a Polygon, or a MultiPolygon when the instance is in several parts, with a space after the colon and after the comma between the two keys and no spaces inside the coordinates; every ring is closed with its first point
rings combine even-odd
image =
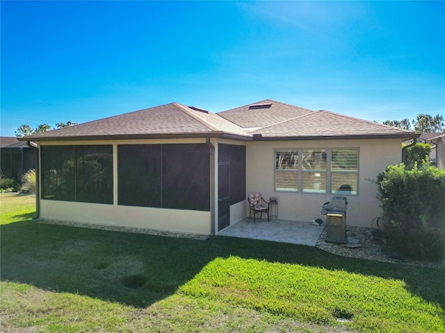
{"type": "Polygon", "coordinates": [[[20,139],[50,141],[216,136],[252,140],[352,137],[404,139],[419,135],[325,110],[314,111],[266,99],[219,113],[170,103],[20,139]]]}

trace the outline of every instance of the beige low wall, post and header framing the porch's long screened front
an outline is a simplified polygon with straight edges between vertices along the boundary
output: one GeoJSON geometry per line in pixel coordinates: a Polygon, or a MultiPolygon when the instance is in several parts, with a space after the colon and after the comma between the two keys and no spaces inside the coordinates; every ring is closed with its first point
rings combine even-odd
{"type": "Polygon", "coordinates": [[[118,205],[118,144],[184,144],[205,143],[205,139],[125,140],[94,142],[44,142],[39,145],[113,145],[113,205],[40,200],[40,217],[60,221],[75,221],[101,225],[120,225],[152,230],[168,230],[194,234],[211,234],[211,213],[193,210],[169,210],[152,207],[118,205]]]}

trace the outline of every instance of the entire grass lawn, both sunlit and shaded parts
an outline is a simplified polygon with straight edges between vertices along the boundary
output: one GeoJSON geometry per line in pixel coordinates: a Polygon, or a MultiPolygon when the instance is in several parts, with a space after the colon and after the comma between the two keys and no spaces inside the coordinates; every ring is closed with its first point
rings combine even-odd
{"type": "Polygon", "coordinates": [[[30,221],[1,194],[1,332],[445,332],[445,271],[30,221]]]}

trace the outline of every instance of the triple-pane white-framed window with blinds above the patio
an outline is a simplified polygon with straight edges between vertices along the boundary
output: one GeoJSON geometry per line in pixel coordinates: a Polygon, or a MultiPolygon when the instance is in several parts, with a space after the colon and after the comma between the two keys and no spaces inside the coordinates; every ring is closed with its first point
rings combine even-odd
{"type": "Polygon", "coordinates": [[[357,195],[358,149],[275,151],[275,191],[357,195]]]}

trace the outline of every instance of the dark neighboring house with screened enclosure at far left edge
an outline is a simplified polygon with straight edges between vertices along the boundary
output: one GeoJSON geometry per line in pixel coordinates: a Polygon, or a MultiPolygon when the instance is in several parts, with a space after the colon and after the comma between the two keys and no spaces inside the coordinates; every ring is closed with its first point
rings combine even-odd
{"type": "Polygon", "coordinates": [[[0,170],[3,177],[20,182],[29,169],[35,169],[35,150],[17,137],[0,138],[0,170]]]}

